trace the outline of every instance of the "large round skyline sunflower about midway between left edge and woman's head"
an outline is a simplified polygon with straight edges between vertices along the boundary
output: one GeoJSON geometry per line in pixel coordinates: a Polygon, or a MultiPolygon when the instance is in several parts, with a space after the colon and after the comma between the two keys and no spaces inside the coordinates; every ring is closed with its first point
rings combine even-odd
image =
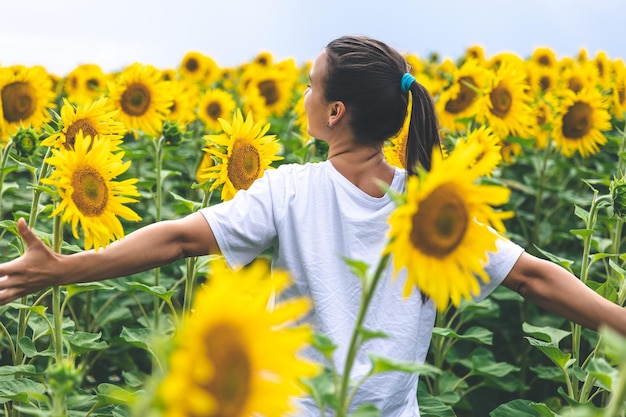
{"type": "Polygon", "coordinates": [[[159,135],[173,101],[170,84],[157,68],[136,62],[110,83],[109,92],[109,103],[128,129],[159,135]]]}

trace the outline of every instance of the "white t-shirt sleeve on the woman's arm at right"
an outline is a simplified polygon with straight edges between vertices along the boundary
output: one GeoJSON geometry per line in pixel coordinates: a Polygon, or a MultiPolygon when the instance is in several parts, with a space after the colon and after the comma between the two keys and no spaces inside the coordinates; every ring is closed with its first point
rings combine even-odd
{"type": "MultiPolygon", "coordinates": [[[[496,232],[494,231],[494,233],[496,232]]],[[[524,248],[504,237],[498,237],[496,246],[496,252],[489,252],[487,254],[488,258],[485,272],[489,276],[489,282],[483,282],[482,279],[479,278],[480,294],[474,296],[474,300],[476,301],[484,300],[498,285],[502,284],[504,278],[511,272],[513,265],[515,265],[524,252],[524,248]]]]}

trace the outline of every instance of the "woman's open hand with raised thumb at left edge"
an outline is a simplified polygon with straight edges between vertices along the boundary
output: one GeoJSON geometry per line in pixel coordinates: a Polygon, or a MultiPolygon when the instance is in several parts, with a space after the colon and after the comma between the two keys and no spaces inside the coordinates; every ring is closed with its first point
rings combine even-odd
{"type": "Polygon", "coordinates": [[[59,255],[33,233],[24,219],[18,220],[17,230],[24,239],[26,251],[17,259],[0,264],[0,305],[59,284],[55,279],[59,255]]]}

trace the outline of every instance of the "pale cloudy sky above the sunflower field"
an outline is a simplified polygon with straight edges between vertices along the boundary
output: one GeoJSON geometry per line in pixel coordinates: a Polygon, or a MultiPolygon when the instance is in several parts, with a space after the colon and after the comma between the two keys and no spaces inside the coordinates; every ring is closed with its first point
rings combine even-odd
{"type": "Polygon", "coordinates": [[[0,65],[174,68],[192,50],[221,66],[262,51],[300,63],[343,34],[423,57],[481,45],[488,56],[545,46],[626,59],[625,23],[623,0],[20,0],[2,4],[0,65]]]}

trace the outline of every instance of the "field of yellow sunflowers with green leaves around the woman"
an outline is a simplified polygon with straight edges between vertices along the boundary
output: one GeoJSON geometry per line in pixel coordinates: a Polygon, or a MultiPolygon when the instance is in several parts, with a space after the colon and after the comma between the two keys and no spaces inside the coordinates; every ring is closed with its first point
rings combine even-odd
{"type": "MultiPolygon", "coordinates": [[[[480,46],[455,60],[406,59],[434,98],[444,155],[474,150],[471,190],[498,206],[487,220],[623,306],[624,61],[547,47],[488,57],[480,46]]],[[[229,200],[267,169],[326,158],[307,133],[310,62],[262,52],[224,68],[191,51],[176,68],[136,62],[112,73],[1,64],[0,263],[26,250],[23,220],[54,252],[103,250],[229,200]]],[[[405,140],[406,126],[385,145],[392,165],[402,166],[405,140]]],[[[402,247],[390,251],[402,259],[402,247]]],[[[0,306],[0,415],[280,416],[305,392],[332,404],[328,370],[295,355],[311,343],[328,353],[332,342],[285,329],[309,300],[268,313],[290,279],[265,279],[269,255],[239,272],[218,257],[187,258],[0,306]],[[252,368],[273,377],[252,378],[252,368]]],[[[427,363],[377,364],[420,373],[423,416],[626,415],[620,336],[505,288],[476,303],[454,285],[416,285],[440,300],[427,363]]]]}

